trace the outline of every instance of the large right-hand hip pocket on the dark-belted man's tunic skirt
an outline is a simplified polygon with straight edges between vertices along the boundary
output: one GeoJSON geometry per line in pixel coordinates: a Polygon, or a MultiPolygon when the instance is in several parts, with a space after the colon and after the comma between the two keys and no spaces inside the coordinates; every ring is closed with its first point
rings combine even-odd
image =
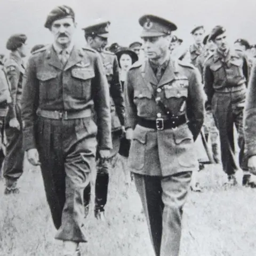
{"type": "Polygon", "coordinates": [[[178,129],[174,134],[175,153],[179,164],[183,167],[195,167],[197,163],[196,150],[194,149],[193,134],[188,126],[178,129]]]}

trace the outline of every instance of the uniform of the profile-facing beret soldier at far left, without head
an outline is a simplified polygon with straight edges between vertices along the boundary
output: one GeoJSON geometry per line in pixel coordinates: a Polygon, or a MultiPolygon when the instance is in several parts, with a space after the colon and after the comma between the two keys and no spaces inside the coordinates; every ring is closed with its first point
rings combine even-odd
{"type": "Polygon", "coordinates": [[[3,173],[7,187],[15,187],[17,180],[23,173],[24,151],[22,149],[23,131],[21,119],[22,79],[25,72],[23,61],[16,53],[10,53],[4,63],[7,78],[10,82],[11,103],[6,116],[5,133],[7,138],[6,157],[3,173]],[[10,127],[12,118],[17,118],[20,130],[10,127]]]}

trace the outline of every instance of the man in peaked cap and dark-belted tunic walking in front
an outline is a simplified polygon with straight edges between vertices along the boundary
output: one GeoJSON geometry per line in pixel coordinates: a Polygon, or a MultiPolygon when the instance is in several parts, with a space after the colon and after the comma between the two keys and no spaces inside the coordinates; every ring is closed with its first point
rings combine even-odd
{"type": "Polygon", "coordinates": [[[204,119],[198,70],[173,60],[169,45],[177,27],[154,15],[139,19],[147,60],[128,71],[125,87],[129,166],[157,256],[178,256],[182,209],[198,169],[194,141],[204,119]]]}

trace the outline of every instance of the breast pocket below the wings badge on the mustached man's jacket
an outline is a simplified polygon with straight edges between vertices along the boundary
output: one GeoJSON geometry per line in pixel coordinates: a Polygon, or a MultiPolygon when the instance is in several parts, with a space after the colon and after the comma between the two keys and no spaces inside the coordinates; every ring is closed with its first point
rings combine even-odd
{"type": "Polygon", "coordinates": [[[95,77],[93,69],[72,69],[71,95],[75,98],[89,99],[91,97],[91,81],[95,77]]]}

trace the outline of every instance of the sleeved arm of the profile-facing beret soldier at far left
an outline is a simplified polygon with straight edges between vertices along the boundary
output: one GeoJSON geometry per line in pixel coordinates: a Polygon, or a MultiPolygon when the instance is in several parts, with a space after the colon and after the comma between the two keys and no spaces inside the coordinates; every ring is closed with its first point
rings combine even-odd
{"type": "Polygon", "coordinates": [[[20,70],[15,62],[13,61],[6,61],[5,64],[6,68],[6,75],[10,82],[10,91],[11,91],[11,98],[12,102],[10,103],[9,113],[10,119],[17,118],[16,115],[16,97],[18,91],[18,84],[20,78],[20,70]]]}

